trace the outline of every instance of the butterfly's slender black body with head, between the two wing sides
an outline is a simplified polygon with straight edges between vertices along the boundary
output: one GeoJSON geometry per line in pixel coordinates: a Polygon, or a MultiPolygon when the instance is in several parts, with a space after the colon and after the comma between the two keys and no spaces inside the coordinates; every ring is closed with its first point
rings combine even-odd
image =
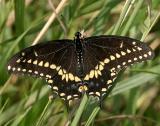
{"type": "Polygon", "coordinates": [[[80,78],[84,77],[84,63],[83,63],[83,39],[81,33],[77,32],[74,39],[76,45],[76,58],[77,58],[77,69],[76,73],[80,78]]]}

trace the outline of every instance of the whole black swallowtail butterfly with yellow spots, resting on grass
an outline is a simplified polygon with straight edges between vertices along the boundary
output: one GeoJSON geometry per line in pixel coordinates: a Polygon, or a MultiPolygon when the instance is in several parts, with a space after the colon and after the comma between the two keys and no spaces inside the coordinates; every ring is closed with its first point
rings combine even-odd
{"type": "Polygon", "coordinates": [[[101,99],[121,69],[153,56],[151,48],[132,38],[83,38],[77,32],[74,40],[53,40],[20,51],[10,59],[8,71],[44,78],[66,101],[84,92],[101,99]]]}

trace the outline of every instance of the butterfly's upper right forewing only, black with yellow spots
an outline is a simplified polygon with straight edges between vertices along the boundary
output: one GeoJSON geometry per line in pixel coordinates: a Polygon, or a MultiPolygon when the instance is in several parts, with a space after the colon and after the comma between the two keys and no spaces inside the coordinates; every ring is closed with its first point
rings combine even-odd
{"type": "Polygon", "coordinates": [[[136,62],[152,59],[154,53],[138,40],[120,36],[86,38],[86,45],[108,68],[122,69],[136,62]],[[108,62],[107,62],[108,61],[108,62]]]}

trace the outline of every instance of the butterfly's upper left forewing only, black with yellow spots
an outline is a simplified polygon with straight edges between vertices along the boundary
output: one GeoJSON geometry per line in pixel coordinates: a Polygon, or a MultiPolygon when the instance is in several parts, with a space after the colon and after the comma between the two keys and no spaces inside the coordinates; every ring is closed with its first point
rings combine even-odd
{"type": "Polygon", "coordinates": [[[49,73],[54,75],[56,74],[54,69],[60,65],[61,58],[69,46],[72,46],[69,40],[31,46],[11,58],[8,70],[18,74],[27,73],[40,77],[46,77],[49,73]]]}

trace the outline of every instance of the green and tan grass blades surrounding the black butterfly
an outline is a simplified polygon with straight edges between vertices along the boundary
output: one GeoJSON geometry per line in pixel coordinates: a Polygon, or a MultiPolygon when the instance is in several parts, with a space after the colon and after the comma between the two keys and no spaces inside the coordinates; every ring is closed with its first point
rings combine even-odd
{"type": "Polygon", "coordinates": [[[0,125],[160,125],[159,12],[159,0],[0,0],[0,125]],[[130,36],[155,51],[152,61],[120,73],[102,109],[84,96],[68,113],[59,98],[48,98],[51,91],[44,81],[7,73],[8,59],[19,50],[40,41],[71,39],[82,29],[88,36],[130,36]]]}

